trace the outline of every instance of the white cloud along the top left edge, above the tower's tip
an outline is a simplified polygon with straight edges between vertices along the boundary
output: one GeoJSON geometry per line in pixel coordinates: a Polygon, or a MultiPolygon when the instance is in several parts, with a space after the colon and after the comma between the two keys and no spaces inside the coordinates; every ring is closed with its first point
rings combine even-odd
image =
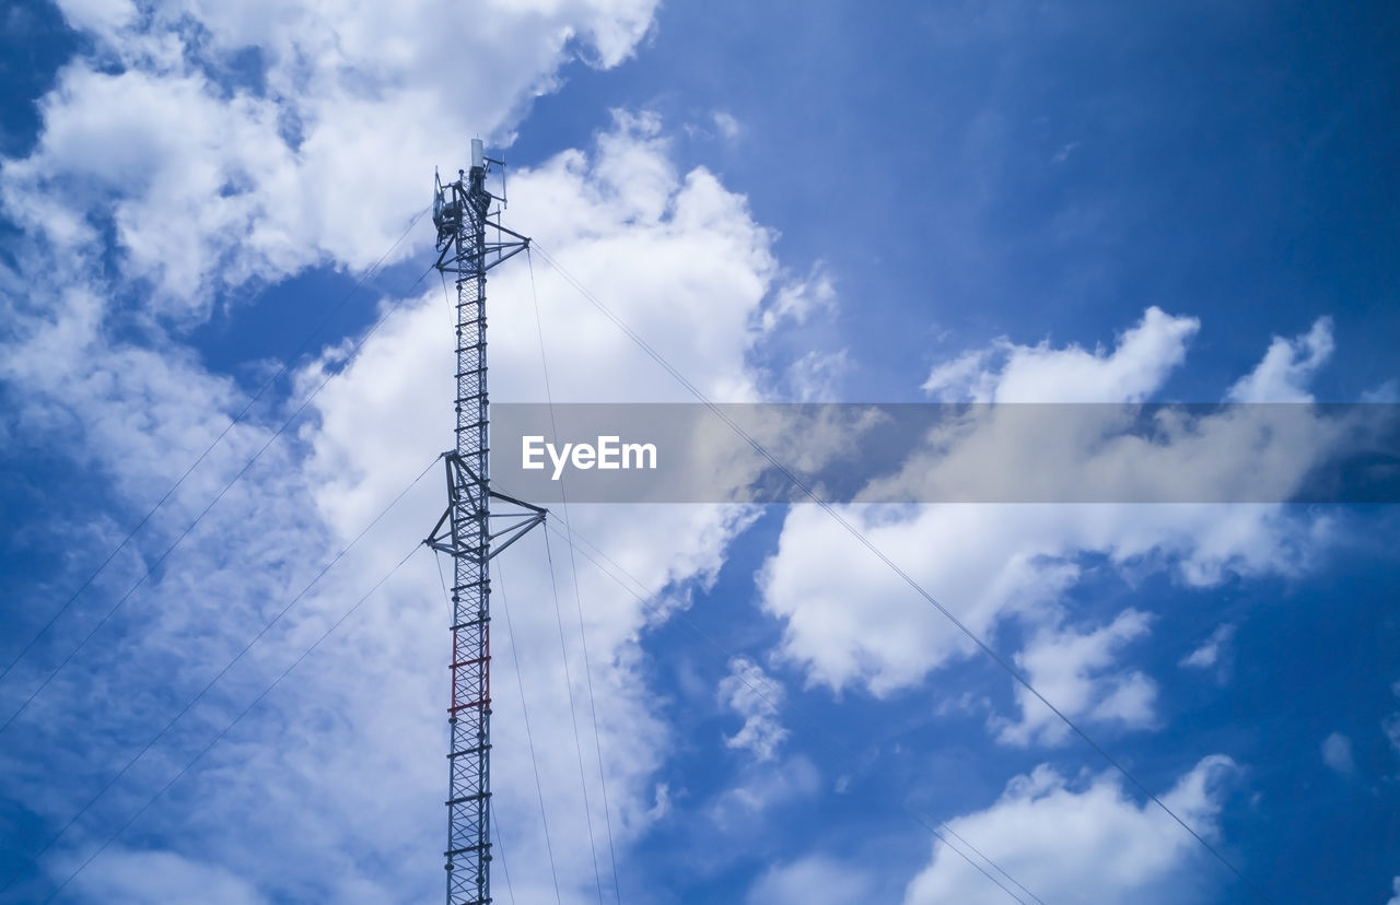
{"type": "Polygon", "coordinates": [[[508,140],[575,53],[620,63],[655,3],[493,6],[463,18],[447,0],[171,0],[137,17],[63,3],[94,57],[59,73],[38,145],[3,165],[0,201],[67,253],[111,224],[122,274],[150,280],[153,308],[178,322],[248,280],[363,269],[427,204],[434,165],[461,165],[470,134],[508,140]],[[249,59],[253,84],[234,74],[249,59]],[[472,67],[490,90],[462,90],[480,84],[472,67]]]}

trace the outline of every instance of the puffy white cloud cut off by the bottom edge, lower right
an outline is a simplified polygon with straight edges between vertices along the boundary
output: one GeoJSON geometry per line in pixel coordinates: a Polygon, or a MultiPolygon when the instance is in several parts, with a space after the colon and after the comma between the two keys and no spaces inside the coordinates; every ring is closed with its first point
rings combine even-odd
{"type": "MultiPolygon", "coordinates": [[[[1210,839],[1218,832],[1219,785],[1232,771],[1229,758],[1207,757],[1161,797],[1210,839]]],[[[1046,902],[1205,898],[1191,880],[1200,843],[1155,804],[1124,794],[1112,775],[1081,785],[1042,765],[1012,779],[987,810],[948,825],[1046,902]]],[[[1004,901],[1001,888],[941,842],[904,894],[906,905],[1004,901]]]]}

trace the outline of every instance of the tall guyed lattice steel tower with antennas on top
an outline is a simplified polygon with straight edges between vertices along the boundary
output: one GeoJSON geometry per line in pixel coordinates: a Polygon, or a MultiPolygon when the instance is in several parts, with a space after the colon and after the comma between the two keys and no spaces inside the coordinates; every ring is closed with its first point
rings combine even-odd
{"type": "MultiPolygon", "coordinates": [[[[447,901],[491,901],[491,557],[545,520],[538,506],[490,487],[486,397],[486,271],[529,246],[500,225],[501,200],[486,190],[500,161],[472,140],[472,169],[434,176],[437,269],[456,283],[456,445],[447,462],[447,511],[427,543],[452,557],[452,704],[448,708],[447,901]],[[491,239],[487,242],[487,231],[491,239]],[[491,501],[510,511],[491,512],[491,501]],[[497,543],[498,541],[498,543],[497,543]]],[[[504,192],[503,192],[504,194],[504,192]]]]}

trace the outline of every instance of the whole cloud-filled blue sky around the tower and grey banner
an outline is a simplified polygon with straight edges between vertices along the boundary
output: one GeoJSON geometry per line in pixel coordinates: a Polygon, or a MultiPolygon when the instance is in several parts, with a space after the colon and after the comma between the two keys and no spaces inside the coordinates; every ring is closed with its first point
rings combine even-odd
{"type": "MultiPolygon", "coordinates": [[[[393,243],[472,134],[714,399],[1397,400],[1382,4],[385,10],[4,13],[0,901],[440,895],[426,551],[113,834],[435,520],[433,471],[335,560],[449,443],[430,227],[393,243]]],[[[543,343],[556,401],[685,400],[549,259],[493,273],[493,399],[545,399],[543,343]]],[[[1015,901],[918,818],[1044,902],[1250,901],[820,511],[570,515],[626,575],[501,557],[497,901],[1015,901]]],[[[1249,884],[1400,899],[1389,506],[847,516],[1249,884]]]]}

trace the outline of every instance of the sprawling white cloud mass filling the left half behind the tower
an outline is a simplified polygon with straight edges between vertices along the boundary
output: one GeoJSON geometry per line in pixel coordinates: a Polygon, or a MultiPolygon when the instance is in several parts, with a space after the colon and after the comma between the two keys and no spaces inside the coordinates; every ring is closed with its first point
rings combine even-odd
{"type": "MultiPolygon", "coordinates": [[[[549,85],[560,62],[575,50],[598,64],[623,59],[652,7],[503,7],[487,28],[469,28],[455,8],[433,4],[382,17],[329,3],[274,6],[161,6],[140,17],[129,7],[66,7],[73,24],[92,32],[98,57],[63,70],[43,101],[35,150],[6,161],[0,175],[6,213],[31,239],[56,242],[62,255],[113,238],[118,266],[102,283],[50,269],[39,242],[21,262],[32,278],[6,274],[4,308],[14,316],[0,366],[24,400],[11,417],[39,425],[32,434],[39,442],[111,476],[108,490],[125,525],[136,520],[126,511],[157,499],[246,401],[234,379],[207,371],[174,339],[178,332],[154,323],[197,322],[231,287],[311,264],[364,267],[427,203],[433,164],[462,159],[469,129],[508,137],[519,105],[549,85]],[[193,22],[207,29],[199,41],[189,35],[200,29],[186,28],[193,22]],[[259,84],[228,81],[221,69],[228,55],[255,43],[262,48],[259,84]],[[442,80],[442,59],[479,59],[498,90],[458,97],[463,80],[442,80]],[[106,152],[94,155],[92,147],[106,152]],[[144,320],[113,340],[108,325],[119,311],[141,312],[144,320]]],[[[606,287],[609,306],[704,392],[756,399],[757,375],[746,355],[763,341],[762,311],[778,295],[801,306],[804,290],[784,281],[774,234],[755,222],[743,197],[703,168],[680,172],[669,151],[655,116],[619,112],[591,147],[512,172],[511,222],[587,285],[606,287]]],[[[421,250],[410,242],[400,253],[421,250]]],[[[556,400],[683,397],[542,259],[533,276],[532,284],[525,259],[491,274],[493,399],[545,399],[536,295],[556,400]]],[[[384,305],[391,313],[354,361],[346,362],[337,345],[297,368],[291,399],[259,403],[147,525],[132,555],[97,583],[95,593],[119,596],[270,439],[280,418],[330,378],[309,420],[269,448],[133,599],[119,617],[122,643],[90,650],[91,670],[64,674],[24,718],[32,732],[14,757],[25,767],[7,771],[8,790],[53,825],[88,792],[57,776],[108,776],[112,751],[144,743],[211,676],[211,664],[225,662],[451,443],[454,368],[442,290],[384,305]],[[90,687],[97,674],[101,688],[90,687]],[[153,676],[160,676],[154,691],[153,676]],[[70,744],[74,737],[92,739],[94,747],[70,744]],[[45,751],[63,754],[45,760],[45,751]]],[[[113,790],[119,815],[426,533],[444,505],[440,480],[423,481],[288,613],[143,761],[140,782],[113,790]]],[[[575,532],[644,587],[665,593],[650,601],[662,613],[714,579],[749,518],[722,506],[570,511],[575,532]]],[[[536,532],[500,561],[494,741],[500,750],[528,750],[528,706],[550,829],[577,839],[591,825],[602,838],[610,822],[626,856],[627,843],[665,810],[652,775],[669,746],[668,727],[643,684],[644,634],[658,617],[584,560],[575,603],[571,558],[552,536],[552,576],[543,541],[536,532]],[[557,615],[542,604],[556,587],[557,615]],[[602,764],[591,744],[588,678],[602,764]],[[578,744],[568,730],[570,691],[584,732],[578,744]]],[[[104,606],[113,599],[104,596],[104,606]]],[[[143,817],[157,848],[113,849],[81,880],[130,873],[134,888],[140,871],[127,866],[148,856],[164,873],[130,898],[189,898],[204,881],[176,862],[217,852],[210,869],[239,877],[237,894],[431,895],[433,877],[441,876],[434,850],[441,850],[442,771],[426,754],[442,748],[445,606],[433,564],[412,560],[298,667],[295,683],[251,713],[143,817]],[[395,782],[364,782],[367,775],[395,782]]],[[[13,678],[32,687],[39,676],[27,664],[13,678]]],[[[494,764],[496,813],[517,894],[528,901],[553,897],[532,774],[526,757],[494,764]]],[[[804,782],[804,789],[811,785],[804,782]]],[[[764,794],[749,793],[746,801],[764,794]]],[[[556,845],[554,855],[573,901],[592,884],[589,853],[556,845]]],[[[71,864],[55,856],[41,867],[60,878],[71,864]]]]}

